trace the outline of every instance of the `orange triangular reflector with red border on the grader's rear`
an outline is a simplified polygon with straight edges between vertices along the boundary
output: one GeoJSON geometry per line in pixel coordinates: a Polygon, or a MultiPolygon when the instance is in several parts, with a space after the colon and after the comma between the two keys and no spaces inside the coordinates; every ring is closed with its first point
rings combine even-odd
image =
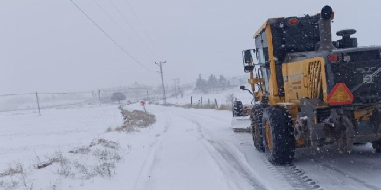
{"type": "Polygon", "coordinates": [[[331,106],[351,104],[353,100],[353,94],[345,83],[336,83],[327,98],[327,102],[331,106]]]}

